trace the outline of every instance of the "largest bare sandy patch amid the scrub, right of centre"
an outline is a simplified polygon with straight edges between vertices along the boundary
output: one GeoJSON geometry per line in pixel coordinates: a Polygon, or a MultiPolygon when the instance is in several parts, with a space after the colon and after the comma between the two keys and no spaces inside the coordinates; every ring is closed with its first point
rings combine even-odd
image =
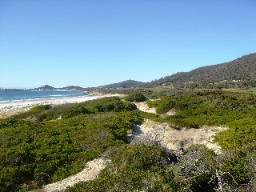
{"type": "Polygon", "coordinates": [[[181,150],[191,145],[202,144],[219,153],[221,146],[213,142],[214,135],[226,129],[226,127],[222,126],[204,126],[199,129],[186,127],[174,129],[167,123],[146,120],[142,125],[134,126],[134,140],[132,142],[154,140],[170,150],[181,150]]]}

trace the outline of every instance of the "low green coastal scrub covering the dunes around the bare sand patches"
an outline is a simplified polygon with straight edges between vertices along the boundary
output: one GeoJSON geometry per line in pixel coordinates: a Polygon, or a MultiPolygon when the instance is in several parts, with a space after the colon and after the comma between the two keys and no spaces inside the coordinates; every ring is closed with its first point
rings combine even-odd
{"type": "Polygon", "coordinates": [[[0,119],[0,191],[37,189],[99,157],[111,162],[98,178],[67,191],[254,191],[256,96],[183,91],[147,103],[158,114],[111,97],[36,106],[0,119]],[[169,110],[175,114],[162,118],[169,110]],[[145,118],[191,129],[229,127],[215,137],[223,153],[190,146],[174,154],[158,142],[130,144],[127,131],[145,118]]]}

